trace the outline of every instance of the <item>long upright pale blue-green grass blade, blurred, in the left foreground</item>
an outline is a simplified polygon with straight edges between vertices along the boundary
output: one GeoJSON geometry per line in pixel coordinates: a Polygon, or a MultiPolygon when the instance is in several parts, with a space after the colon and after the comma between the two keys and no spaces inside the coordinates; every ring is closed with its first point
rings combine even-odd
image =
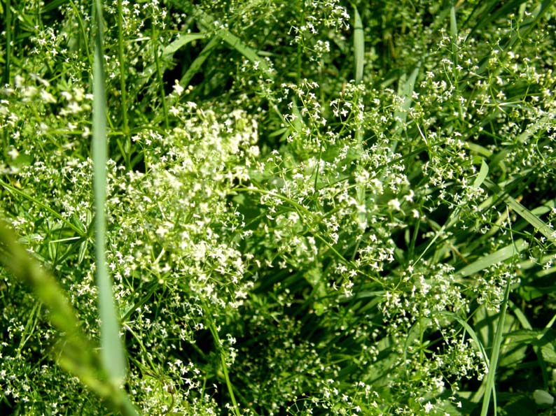
{"type": "Polygon", "coordinates": [[[114,306],[112,284],[106,267],[106,92],[104,90],[104,48],[102,3],[95,1],[95,65],[93,66],[92,159],[95,189],[95,258],[99,287],[100,343],[102,364],[111,381],[119,385],[125,379],[125,355],[120,340],[120,328],[114,306]]]}

